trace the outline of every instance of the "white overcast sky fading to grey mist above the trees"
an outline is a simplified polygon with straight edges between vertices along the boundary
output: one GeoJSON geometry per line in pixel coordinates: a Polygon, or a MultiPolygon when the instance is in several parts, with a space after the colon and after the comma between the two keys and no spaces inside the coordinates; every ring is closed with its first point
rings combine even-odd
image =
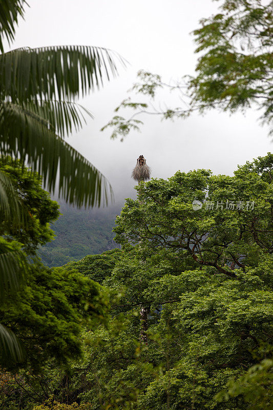
{"type": "MultiPolygon", "coordinates": [[[[100,132],[114,109],[127,97],[140,69],[168,81],[194,74],[197,55],[190,34],[199,19],[217,10],[212,0],[28,0],[12,48],[51,45],[90,45],[113,49],[131,66],[103,90],[80,101],[95,119],[68,142],[85,155],[111,182],[118,203],[135,196],[130,178],[136,158],[143,154],[152,176],[167,178],[177,170],[211,169],[230,174],[247,160],[266,155],[272,144],[268,129],[258,124],[259,113],[229,116],[212,111],[184,120],[161,122],[141,118],[141,133],[132,132],[122,143],[100,132]]],[[[8,50],[8,48],[7,48],[8,50]]],[[[158,104],[177,105],[175,96],[162,95],[158,104]]]]}

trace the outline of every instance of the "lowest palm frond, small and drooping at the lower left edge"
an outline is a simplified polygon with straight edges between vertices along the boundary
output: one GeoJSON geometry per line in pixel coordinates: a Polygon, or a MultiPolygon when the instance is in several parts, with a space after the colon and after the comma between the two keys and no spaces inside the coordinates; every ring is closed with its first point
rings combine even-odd
{"type": "Polygon", "coordinates": [[[6,327],[0,323],[0,361],[5,363],[10,359],[22,361],[24,359],[24,353],[14,333],[7,330],[6,327]]]}

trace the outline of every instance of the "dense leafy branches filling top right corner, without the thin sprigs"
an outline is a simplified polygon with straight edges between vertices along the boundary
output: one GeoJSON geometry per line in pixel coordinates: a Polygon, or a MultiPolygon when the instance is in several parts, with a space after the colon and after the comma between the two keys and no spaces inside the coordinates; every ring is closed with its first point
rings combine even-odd
{"type": "Polygon", "coordinates": [[[190,82],[193,104],[235,112],[257,105],[272,121],[272,8],[260,0],[224,1],[194,31],[203,52],[190,82]]]}

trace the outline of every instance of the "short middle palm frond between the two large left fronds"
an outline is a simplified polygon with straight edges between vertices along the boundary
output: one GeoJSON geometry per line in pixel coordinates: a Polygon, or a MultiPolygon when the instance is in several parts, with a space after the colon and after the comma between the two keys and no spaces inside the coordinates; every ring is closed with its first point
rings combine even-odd
{"type": "Polygon", "coordinates": [[[86,108],[72,101],[32,99],[22,106],[47,120],[48,127],[61,137],[71,134],[73,129],[78,131],[82,122],[86,123],[83,114],[93,118],[86,108]]]}

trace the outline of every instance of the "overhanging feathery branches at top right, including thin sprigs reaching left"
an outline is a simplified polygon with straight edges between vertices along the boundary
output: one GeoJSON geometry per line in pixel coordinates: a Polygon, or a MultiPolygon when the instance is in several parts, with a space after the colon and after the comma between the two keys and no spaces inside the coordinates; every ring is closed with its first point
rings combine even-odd
{"type": "MultiPolygon", "coordinates": [[[[220,2],[220,0],[215,0],[220,2]]],[[[261,112],[262,124],[272,124],[272,2],[261,0],[222,0],[219,12],[200,20],[193,31],[195,52],[199,54],[196,73],[166,83],[158,74],[138,72],[131,91],[152,100],[161,90],[177,91],[181,107],[155,108],[151,100],[139,102],[136,96],[124,99],[116,112],[131,109],[124,118],[117,114],[103,127],[113,129],[112,138],[139,130],[139,114],[161,119],[184,118],[193,112],[211,109],[234,113],[254,107],[261,112]],[[200,55],[201,54],[201,55],[200,55]]],[[[270,128],[270,133],[272,129],[270,128]]]]}

